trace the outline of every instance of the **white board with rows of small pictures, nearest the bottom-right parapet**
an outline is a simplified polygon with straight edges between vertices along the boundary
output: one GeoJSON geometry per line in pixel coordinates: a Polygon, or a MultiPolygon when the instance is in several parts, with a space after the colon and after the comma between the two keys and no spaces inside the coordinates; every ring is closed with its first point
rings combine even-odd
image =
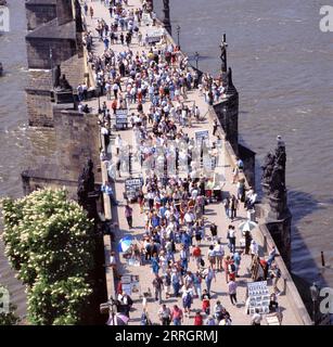
{"type": "Polygon", "coordinates": [[[269,313],[270,295],[267,287],[267,281],[247,283],[248,291],[248,313],[255,313],[256,309],[259,313],[269,313]]]}

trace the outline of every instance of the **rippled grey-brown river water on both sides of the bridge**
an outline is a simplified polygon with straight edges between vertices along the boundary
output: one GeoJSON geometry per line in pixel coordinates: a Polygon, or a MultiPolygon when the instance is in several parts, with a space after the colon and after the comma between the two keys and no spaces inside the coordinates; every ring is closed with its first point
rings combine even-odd
{"type": "MultiPolygon", "coordinates": [[[[293,272],[333,286],[333,268],[321,270],[320,252],[333,267],[333,33],[319,30],[316,0],[170,0],[174,37],[198,67],[217,74],[219,43],[227,34],[228,63],[240,93],[240,138],[258,164],[286,143],[289,203],[293,213],[293,272]]],[[[162,0],[155,9],[162,16],[162,0]]],[[[34,166],[30,150],[46,139],[26,129],[24,2],[10,1],[11,33],[0,36],[0,195],[20,196],[21,171],[34,166]],[[14,21],[15,17],[15,21],[14,21]]],[[[260,171],[257,169],[257,178],[260,171]]],[[[259,185],[259,181],[257,181],[259,185]]],[[[23,310],[24,294],[0,248],[0,283],[8,284],[23,310]]]]}

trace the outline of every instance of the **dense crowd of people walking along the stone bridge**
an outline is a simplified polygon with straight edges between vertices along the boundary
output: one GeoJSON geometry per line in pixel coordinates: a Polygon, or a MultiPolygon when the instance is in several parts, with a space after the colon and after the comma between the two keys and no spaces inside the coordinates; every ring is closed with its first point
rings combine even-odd
{"type": "MultiPolygon", "coordinates": [[[[93,68],[100,93],[106,95],[106,102],[101,110],[101,131],[105,136],[106,144],[112,115],[118,108],[136,106],[129,121],[133,130],[136,155],[141,167],[146,169],[146,179],[137,196],[144,218],[144,234],[138,244],[131,246],[130,256],[140,266],[150,266],[154,274],[151,283],[152,296],[161,305],[157,312],[161,324],[181,325],[183,319],[190,317],[193,301],[200,300],[201,309],[196,310],[193,317],[194,325],[230,325],[231,314],[221,300],[215,298],[212,283],[216,281],[218,272],[225,273],[230,303],[238,306],[242,257],[251,254],[253,261],[264,261],[258,256],[258,246],[252,240],[249,231],[244,235],[244,248],[236,247],[236,230],[232,224],[240,202],[243,202],[247,209],[252,209],[256,203],[256,193],[252,189],[246,190],[244,180],[239,179],[243,163],[238,159],[233,174],[238,193],[223,200],[226,217],[231,224],[228,230],[218,230],[205,216],[206,205],[214,202],[215,182],[212,177],[205,177],[200,171],[197,160],[202,160],[203,153],[201,150],[195,156],[195,151],[202,146],[197,146],[187,131],[193,123],[203,119],[197,105],[188,105],[189,91],[200,90],[205,101],[212,104],[223,97],[222,80],[220,77],[214,79],[207,74],[201,79],[197,72],[189,68],[188,60],[180,53],[179,48],[168,43],[166,38],[162,38],[158,46],[150,47],[140,31],[145,7],[133,10],[127,7],[126,1],[115,0],[105,1],[105,11],[110,12],[111,24],[99,20],[95,28],[99,40],[104,44],[104,52],[99,55],[93,50],[91,31],[85,34],[84,44],[89,52],[88,63],[93,68]],[[142,47],[141,52],[135,53],[131,49],[133,40],[142,47]],[[113,50],[114,44],[121,44],[121,50],[113,50]],[[148,112],[144,112],[145,103],[149,103],[149,107],[145,107],[148,112]],[[181,143],[187,144],[184,153],[179,150],[181,143]],[[159,150],[162,155],[156,156],[155,153],[159,150]],[[158,157],[162,158],[161,162],[158,157]],[[179,175],[182,166],[183,177],[179,175]],[[209,230],[209,233],[206,234],[206,230],[209,230]],[[223,232],[227,234],[228,249],[220,240],[223,232]],[[209,243],[207,253],[202,247],[203,241],[209,243]],[[168,306],[171,297],[180,298],[181,305],[168,306]]],[[[93,17],[92,4],[85,4],[85,14],[93,17]]],[[[84,100],[85,88],[79,86],[78,91],[80,100],[84,100]]],[[[216,141],[208,152],[210,156],[218,152],[220,142],[216,128],[213,137],[216,141]]],[[[115,158],[112,160],[116,163],[118,177],[124,153],[127,152],[120,143],[121,138],[118,136],[115,158]]],[[[102,157],[108,160],[105,153],[102,153],[102,157]]],[[[112,162],[110,160],[110,167],[112,162]]],[[[110,176],[116,179],[112,170],[110,176]]],[[[107,182],[102,185],[102,190],[117,204],[107,182]]],[[[135,228],[136,223],[132,215],[132,207],[126,204],[124,216],[129,230],[135,228]]],[[[276,254],[270,254],[266,261],[266,278],[269,273],[276,273],[278,279],[274,256],[276,254]]],[[[120,306],[125,307],[123,312],[129,317],[132,299],[123,291],[121,283],[118,295],[123,305],[120,306]]],[[[157,323],[150,318],[145,296],[142,305],[141,324],[157,323]]],[[[257,324],[260,320],[255,318],[253,322],[257,324]]]]}

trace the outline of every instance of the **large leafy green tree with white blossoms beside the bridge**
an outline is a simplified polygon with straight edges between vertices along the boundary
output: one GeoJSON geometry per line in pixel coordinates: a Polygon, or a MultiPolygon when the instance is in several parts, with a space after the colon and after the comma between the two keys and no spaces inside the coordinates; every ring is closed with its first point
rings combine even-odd
{"type": "Polygon", "coordinates": [[[65,190],[2,200],[5,255],[28,286],[34,324],[76,324],[91,294],[92,222],[65,190]]]}

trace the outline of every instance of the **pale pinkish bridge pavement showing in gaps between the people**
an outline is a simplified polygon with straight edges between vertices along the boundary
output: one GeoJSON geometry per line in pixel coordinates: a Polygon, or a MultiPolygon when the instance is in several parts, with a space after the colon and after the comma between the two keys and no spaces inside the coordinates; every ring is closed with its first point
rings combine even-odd
{"type": "MultiPolygon", "coordinates": [[[[129,0],[129,7],[132,9],[137,9],[141,5],[140,0],[129,0]]],[[[107,9],[100,2],[100,1],[93,1],[93,2],[88,2],[89,5],[92,5],[94,9],[94,17],[91,21],[90,17],[87,17],[87,25],[90,30],[93,31],[93,35],[95,36],[95,26],[97,26],[97,20],[98,18],[104,18],[106,23],[110,23],[110,14],[107,9]]],[[[146,27],[141,26],[140,30],[143,34],[143,38],[145,36],[146,27]]],[[[104,46],[103,42],[98,42],[98,39],[94,40],[95,43],[95,51],[99,54],[103,53],[104,46]]],[[[125,46],[121,44],[113,44],[111,47],[114,51],[120,52],[125,50],[125,46]]],[[[130,49],[133,52],[137,51],[142,51],[143,47],[139,47],[137,43],[137,39],[133,39],[133,43],[130,46],[130,49]]],[[[101,98],[101,102],[106,101],[106,98],[103,97],[101,98]]],[[[192,104],[195,102],[196,105],[198,105],[201,110],[201,114],[205,115],[206,112],[208,111],[207,104],[204,102],[204,98],[200,95],[198,90],[190,91],[188,93],[188,103],[192,104]]],[[[107,105],[110,106],[111,102],[107,102],[107,105]]],[[[90,106],[97,107],[97,101],[94,100],[93,102],[90,102],[90,106]]],[[[136,108],[136,105],[132,105],[132,110],[136,108]]],[[[148,111],[149,108],[149,103],[144,104],[144,111],[148,111]]],[[[193,123],[193,126],[191,128],[185,128],[184,130],[189,133],[189,137],[194,137],[194,131],[200,130],[200,129],[208,129],[209,130],[209,137],[214,140],[214,137],[212,136],[213,131],[213,124],[208,120],[205,119],[201,123],[193,123]]],[[[118,133],[120,133],[123,141],[126,141],[128,144],[132,143],[132,137],[133,137],[133,131],[131,129],[128,130],[121,130],[118,133]]],[[[223,159],[219,162],[219,167],[217,168],[220,172],[225,174],[226,177],[226,185],[223,187],[223,194],[236,194],[236,188],[235,184],[232,184],[232,167],[228,165],[228,163],[225,163],[223,159]]],[[[133,177],[136,175],[141,174],[141,168],[138,164],[133,165],[133,177]]],[[[135,237],[140,237],[144,233],[144,214],[140,214],[140,208],[138,204],[133,204],[133,229],[129,230],[127,226],[127,221],[125,218],[125,207],[124,207],[124,182],[125,179],[129,177],[128,174],[123,174],[121,179],[117,179],[116,184],[115,184],[115,194],[116,198],[119,202],[119,205],[114,208],[113,210],[113,216],[118,219],[118,231],[116,239],[117,241],[120,240],[124,235],[131,234],[135,237]]],[[[218,226],[218,237],[222,241],[226,254],[229,254],[229,248],[227,246],[228,242],[226,239],[227,234],[227,229],[228,224],[232,223],[233,226],[238,227],[240,222],[246,220],[246,211],[243,208],[243,204],[241,204],[240,209],[238,210],[238,218],[231,222],[229,219],[227,219],[225,209],[221,203],[213,203],[206,206],[206,213],[205,213],[205,218],[207,222],[215,222],[218,226]]],[[[236,228],[238,229],[238,228],[236,228]]],[[[256,239],[256,230],[252,232],[254,239],[256,239]]],[[[207,264],[207,252],[208,252],[208,246],[212,244],[210,239],[208,237],[210,235],[209,230],[206,229],[206,239],[202,242],[201,247],[202,247],[202,253],[205,257],[205,262],[207,264]]],[[[239,246],[239,241],[241,239],[241,232],[238,230],[236,231],[236,245],[239,246]]],[[[239,248],[239,247],[238,247],[239,248]]],[[[260,247],[259,247],[260,249],[260,247]]],[[[259,255],[261,253],[261,249],[259,250],[259,255]]],[[[262,254],[261,254],[262,255],[262,254]]],[[[179,253],[176,255],[176,259],[179,258],[179,253]]],[[[213,308],[216,301],[219,299],[227,308],[227,310],[231,314],[232,319],[232,324],[234,325],[248,325],[251,321],[251,317],[245,313],[245,299],[246,299],[246,283],[252,282],[251,275],[249,275],[249,265],[251,265],[251,256],[249,255],[242,255],[242,262],[241,262],[241,268],[239,271],[240,278],[238,279],[238,305],[233,306],[230,303],[229,295],[228,295],[228,287],[226,283],[226,274],[225,272],[217,272],[216,274],[216,281],[212,284],[212,299],[210,299],[210,307],[213,308]]],[[[190,261],[190,270],[195,269],[194,260],[191,259],[190,261]]],[[[140,324],[140,317],[142,313],[142,293],[148,292],[149,288],[151,288],[151,292],[154,293],[153,287],[152,287],[152,281],[153,281],[153,273],[151,270],[150,265],[144,265],[140,267],[136,266],[129,266],[126,260],[123,258],[121,255],[119,255],[119,269],[120,273],[123,274],[136,274],[139,275],[140,279],[140,292],[137,294],[132,294],[132,299],[135,301],[132,310],[130,312],[130,322],[129,324],[140,324]]],[[[282,282],[282,281],[281,281],[282,282]]],[[[269,280],[269,290],[270,293],[272,292],[272,285],[271,281],[269,280]]],[[[281,283],[280,283],[281,285],[281,283]]],[[[203,288],[205,288],[205,284],[203,282],[202,285],[203,288]]],[[[175,298],[170,297],[166,299],[165,294],[163,293],[163,303],[165,303],[168,307],[171,308],[172,305],[176,303],[182,307],[181,299],[180,298],[175,298]]],[[[284,295],[279,296],[279,305],[282,308],[282,313],[283,313],[283,321],[282,324],[295,324],[296,318],[290,309],[289,303],[286,300],[286,297],[284,295]]],[[[196,309],[201,309],[202,303],[200,299],[195,298],[193,300],[192,305],[192,313],[190,314],[190,318],[184,318],[183,324],[185,325],[193,325],[194,322],[194,313],[193,311],[196,309]]],[[[157,311],[158,311],[159,305],[157,301],[154,301],[153,298],[151,298],[148,303],[148,311],[150,314],[150,319],[157,323],[158,318],[157,318],[157,311]]],[[[262,324],[266,324],[266,320],[262,320],[262,324]]]]}

